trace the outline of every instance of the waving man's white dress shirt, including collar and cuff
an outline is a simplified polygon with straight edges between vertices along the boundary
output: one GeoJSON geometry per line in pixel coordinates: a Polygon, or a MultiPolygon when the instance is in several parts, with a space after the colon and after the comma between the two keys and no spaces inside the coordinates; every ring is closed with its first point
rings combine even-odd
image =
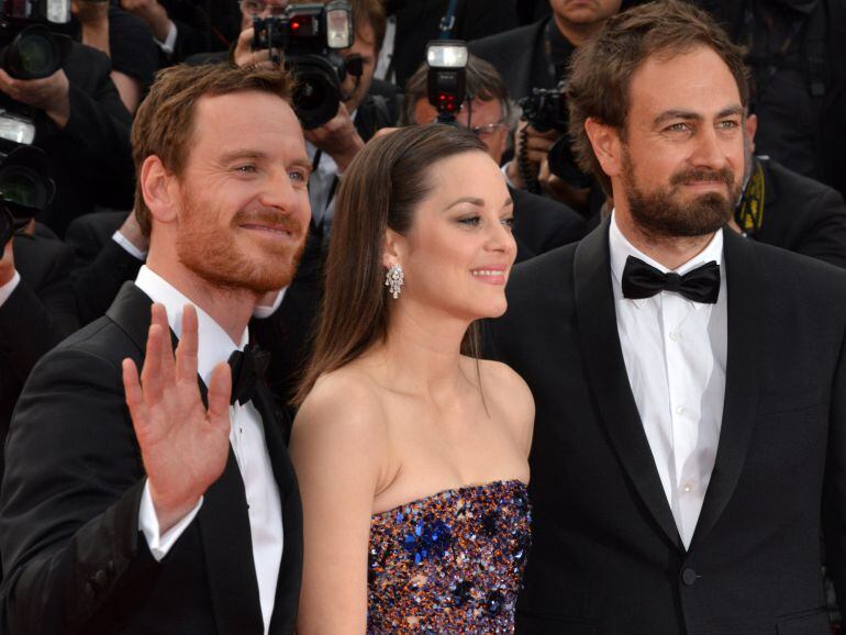
{"type": "MultiPolygon", "coordinates": [[[[193,304],[181,292],[160,276],[143,266],[135,285],[149,296],[154,302],[160,302],[167,310],[167,320],[177,337],[182,330],[182,308],[193,304]]],[[[226,361],[235,349],[243,350],[248,341],[244,330],[241,342],[236,345],[226,332],[197,308],[198,353],[197,369],[208,386],[212,369],[221,361],[226,361]]],[[[270,626],[276,599],[276,583],[279,565],[282,560],[282,509],[279,500],[279,487],[274,477],[270,457],[265,443],[261,415],[249,401],[243,405],[235,402],[230,406],[232,430],[230,443],[244,481],[249,514],[249,533],[253,538],[253,561],[258,581],[258,598],[265,622],[265,633],[270,626]]],[[[138,525],[147,539],[153,556],[160,560],[167,555],[174,543],[188,527],[202,504],[198,503],[185,519],[171,527],[165,535],[159,535],[158,521],[149,494],[149,483],[144,487],[138,525]]]]}

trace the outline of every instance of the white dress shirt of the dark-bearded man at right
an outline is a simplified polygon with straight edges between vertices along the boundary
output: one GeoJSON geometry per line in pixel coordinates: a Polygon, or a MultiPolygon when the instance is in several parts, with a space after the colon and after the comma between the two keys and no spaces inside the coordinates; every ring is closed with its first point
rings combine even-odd
{"type": "Polygon", "coordinates": [[[628,256],[665,274],[669,269],[636,249],[613,214],[609,246],[628,382],[664,493],[689,547],[714,469],[723,420],[728,335],[723,234],[716,232],[698,256],[675,269],[684,275],[712,260],[721,265],[715,304],[692,302],[670,291],[642,300],[623,298],[628,256]]]}

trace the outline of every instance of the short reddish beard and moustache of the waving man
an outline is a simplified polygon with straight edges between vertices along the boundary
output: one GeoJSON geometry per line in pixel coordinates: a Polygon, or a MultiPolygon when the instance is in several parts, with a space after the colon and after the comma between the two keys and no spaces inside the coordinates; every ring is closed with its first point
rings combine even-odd
{"type": "Polygon", "coordinates": [[[197,276],[231,293],[249,291],[263,296],[288,287],[297,272],[297,266],[305,245],[305,231],[290,216],[271,211],[238,212],[232,219],[231,231],[223,231],[214,223],[203,223],[203,212],[187,203],[183,226],[179,229],[176,250],[179,260],[197,276]],[[296,245],[279,246],[275,250],[275,267],[267,266],[267,258],[251,258],[234,248],[233,234],[237,226],[248,221],[275,223],[291,231],[300,241],[296,245]]]}

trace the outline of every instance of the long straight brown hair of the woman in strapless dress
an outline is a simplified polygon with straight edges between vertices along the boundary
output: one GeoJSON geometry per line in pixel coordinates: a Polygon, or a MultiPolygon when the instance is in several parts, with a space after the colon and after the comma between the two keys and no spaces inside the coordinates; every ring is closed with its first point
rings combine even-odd
{"type": "MultiPolygon", "coordinates": [[[[418,205],[432,191],[432,166],[467,152],[486,152],[469,131],[437,123],[412,125],[370,141],[349,164],[335,202],[313,354],[294,403],[302,403],[321,375],[385,342],[390,313],[385,233],[391,229],[407,234],[418,205]]],[[[475,324],[461,349],[477,356],[475,324]]]]}

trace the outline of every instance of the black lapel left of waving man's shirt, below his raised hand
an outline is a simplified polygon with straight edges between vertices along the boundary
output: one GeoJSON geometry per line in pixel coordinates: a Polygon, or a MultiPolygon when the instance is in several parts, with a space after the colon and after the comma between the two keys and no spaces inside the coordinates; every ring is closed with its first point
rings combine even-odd
{"type": "Polygon", "coordinates": [[[219,633],[264,633],[244,481],[230,448],[226,468],[197,514],[219,633]]]}

